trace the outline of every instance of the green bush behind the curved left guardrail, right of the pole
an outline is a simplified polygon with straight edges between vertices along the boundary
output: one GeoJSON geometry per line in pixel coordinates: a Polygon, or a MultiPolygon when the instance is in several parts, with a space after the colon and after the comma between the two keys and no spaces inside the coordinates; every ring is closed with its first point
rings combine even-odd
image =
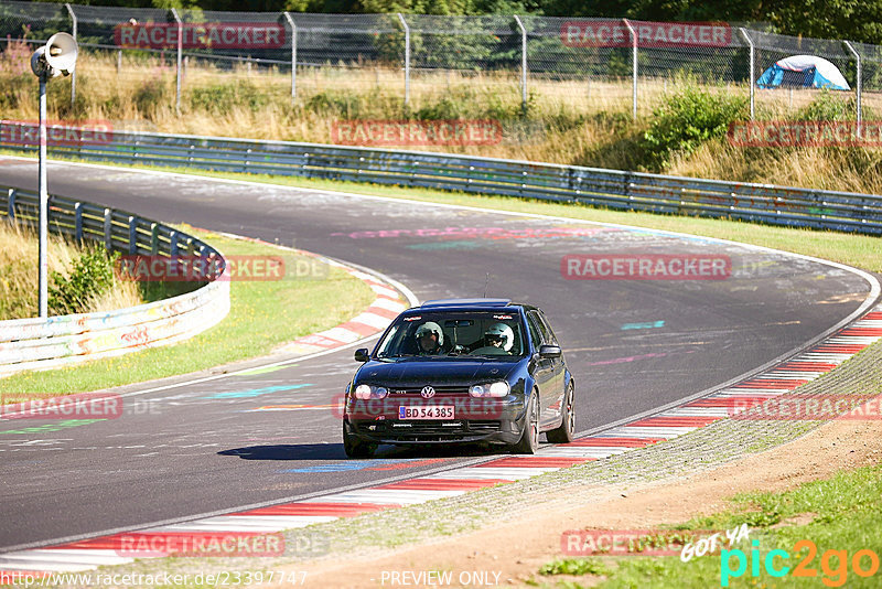
{"type": "Polygon", "coordinates": [[[52,272],[49,287],[49,311],[55,315],[85,313],[92,301],[114,285],[114,263],[119,253],[93,249],[80,254],[68,276],[52,272]]]}

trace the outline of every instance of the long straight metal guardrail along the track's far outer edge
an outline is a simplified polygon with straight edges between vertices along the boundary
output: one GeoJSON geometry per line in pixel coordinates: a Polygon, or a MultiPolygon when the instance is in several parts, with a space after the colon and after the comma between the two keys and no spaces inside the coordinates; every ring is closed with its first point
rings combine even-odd
{"type": "MultiPolygon", "coordinates": [[[[33,126],[0,121],[0,147],[36,151],[33,126]]],[[[399,184],[628,211],[729,217],[818,229],[882,234],[882,196],[679,178],[578,165],[422,151],[117,131],[68,132],[55,156],[399,184]],[[88,140],[87,140],[88,139],[88,140]]]]}

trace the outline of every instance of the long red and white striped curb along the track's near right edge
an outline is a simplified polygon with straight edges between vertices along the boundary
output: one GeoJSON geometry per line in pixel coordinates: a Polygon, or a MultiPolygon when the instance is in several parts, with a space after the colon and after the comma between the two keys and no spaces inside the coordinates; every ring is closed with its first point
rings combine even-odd
{"type": "MultiPolygon", "coordinates": [[[[379,292],[378,292],[379,294],[379,292]]],[[[361,315],[359,315],[361,317],[361,315]]],[[[356,318],[357,319],[357,318],[356,318]]],[[[355,320],[353,320],[355,321],[355,320]]],[[[507,456],[473,467],[397,481],[377,486],[343,491],[244,512],[194,520],[62,544],[49,548],[0,555],[0,575],[46,575],[92,570],[103,565],[135,560],[122,556],[123,542],[132,536],[168,544],[169,537],[218,537],[224,534],[268,534],[306,527],[380,510],[415,505],[529,479],[591,460],[621,454],[635,448],[670,440],[729,417],[730,408],[759,405],[818,378],[882,339],[882,306],[839,330],[811,349],[781,362],[764,373],[691,400],[657,415],[636,419],[601,433],[540,450],[536,456],[507,456]]],[[[151,554],[161,557],[165,554],[151,554]]]]}

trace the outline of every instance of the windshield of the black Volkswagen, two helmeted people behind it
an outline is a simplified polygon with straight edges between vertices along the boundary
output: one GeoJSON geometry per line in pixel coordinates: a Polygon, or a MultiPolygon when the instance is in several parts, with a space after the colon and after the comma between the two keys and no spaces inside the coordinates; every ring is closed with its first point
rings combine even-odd
{"type": "Polygon", "coordinates": [[[399,317],[377,345],[378,358],[482,357],[508,360],[526,353],[515,311],[428,312],[399,317]]]}

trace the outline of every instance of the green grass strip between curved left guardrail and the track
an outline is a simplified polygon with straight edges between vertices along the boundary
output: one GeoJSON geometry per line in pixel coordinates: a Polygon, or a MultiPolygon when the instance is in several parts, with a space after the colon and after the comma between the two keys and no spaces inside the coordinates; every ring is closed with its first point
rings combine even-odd
{"type": "MultiPolygon", "coordinates": [[[[282,254],[286,264],[303,258],[269,245],[230,239],[192,227],[185,231],[227,256],[282,254]],[[289,255],[293,258],[288,258],[289,255]]],[[[234,280],[227,318],[191,340],[117,358],[13,375],[2,379],[3,393],[23,398],[29,394],[95,390],[267,354],[279,344],[351,319],[374,300],[374,292],[361,280],[337,268],[327,267],[327,270],[324,276],[293,280],[234,280]]]]}

